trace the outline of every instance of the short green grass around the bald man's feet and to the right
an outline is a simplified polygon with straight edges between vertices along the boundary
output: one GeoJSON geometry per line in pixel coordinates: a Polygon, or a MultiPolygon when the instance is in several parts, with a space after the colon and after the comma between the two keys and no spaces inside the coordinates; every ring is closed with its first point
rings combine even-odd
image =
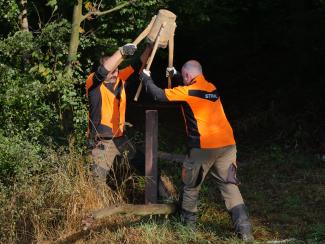
{"type": "MultiPolygon", "coordinates": [[[[242,152],[240,189],[249,208],[256,243],[291,239],[290,243],[325,241],[325,169],[312,156],[278,147],[242,152]]],[[[180,177],[180,164],[163,163],[164,173],[180,177]]],[[[141,219],[132,228],[139,243],[240,243],[212,177],[200,193],[197,231],[189,232],[177,217],[141,219]]],[[[120,239],[122,240],[122,239],[120,239]]]]}

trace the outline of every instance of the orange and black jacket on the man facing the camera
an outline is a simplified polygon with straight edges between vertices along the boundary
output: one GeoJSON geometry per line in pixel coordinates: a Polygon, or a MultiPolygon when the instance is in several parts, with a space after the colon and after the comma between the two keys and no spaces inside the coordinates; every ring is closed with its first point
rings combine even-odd
{"type": "Polygon", "coordinates": [[[86,80],[86,95],[89,101],[88,136],[113,138],[123,135],[126,110],[126,80],[141,67],[140,59],[122,69],[115,83],[104,80],[108,70],[103,65],[86,80]]]}

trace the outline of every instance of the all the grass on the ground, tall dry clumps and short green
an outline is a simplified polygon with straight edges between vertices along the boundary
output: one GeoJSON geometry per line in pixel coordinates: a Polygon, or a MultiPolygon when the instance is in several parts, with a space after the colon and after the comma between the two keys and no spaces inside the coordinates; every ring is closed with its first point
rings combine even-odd
{"type": "MultiPolygon", "coordinates": [[[[324,243],[324,163],[274,146],[238,149],[240,189],[249,208],[256,243],[288,238],[295,238],[296,243],[324,243]]],[[[28,185],[11,188],[11,199],[0,194],[2,216],[6,217],[6,221],[0,221],[5,231],[1,242],[240,243],[210,176],[200,193],[195,232],[182,226],[177,215],[167,219],[113,216],[83,231],[81,221],[87,214],[127,201],[130,188],[143,191],[143,179],[131,177],[132,184],[125,183],[124,188],[112,191],[91,179],[87,160],[73,150],[52,152],[47,160],[53,167],[46,174],[34,176],[28,185]]],[[[180,185],[180,164],[163,162],[160,167],[180,185]]],[[[136,191],[135,196],[141,197],[141,191],[136,191]]]]}

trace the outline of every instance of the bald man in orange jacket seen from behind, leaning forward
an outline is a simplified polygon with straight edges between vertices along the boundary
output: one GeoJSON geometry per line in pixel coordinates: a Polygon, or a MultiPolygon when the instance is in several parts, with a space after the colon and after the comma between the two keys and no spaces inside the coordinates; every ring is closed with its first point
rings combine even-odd
{"type": "Polygon", "coordinates": [[[200,63],[195,60],[187,61],[181,74],[175,69],[167,69],[166,74],[171,73],[182,78],[184,86],[163,90],[154,84],[148,70],[140,73],[140,80],[153,100],[181,102],[189,149],[182,167],[181,219],[186,225],[195,227],[199,190],[210,171],[236,233],[244,241],[252,241],[252,227],[236,177],[236,142],[219,92],[205,79],[200,63]]]}

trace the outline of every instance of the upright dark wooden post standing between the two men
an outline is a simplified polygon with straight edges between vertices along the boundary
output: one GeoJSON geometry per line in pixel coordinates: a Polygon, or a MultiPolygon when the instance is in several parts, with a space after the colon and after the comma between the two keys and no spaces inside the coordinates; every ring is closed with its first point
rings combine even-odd
{"type": "Polygon", "coordinates": [[[158,112],[146,110],[145,203],[157,203],[158,191],[158,112]]]}

